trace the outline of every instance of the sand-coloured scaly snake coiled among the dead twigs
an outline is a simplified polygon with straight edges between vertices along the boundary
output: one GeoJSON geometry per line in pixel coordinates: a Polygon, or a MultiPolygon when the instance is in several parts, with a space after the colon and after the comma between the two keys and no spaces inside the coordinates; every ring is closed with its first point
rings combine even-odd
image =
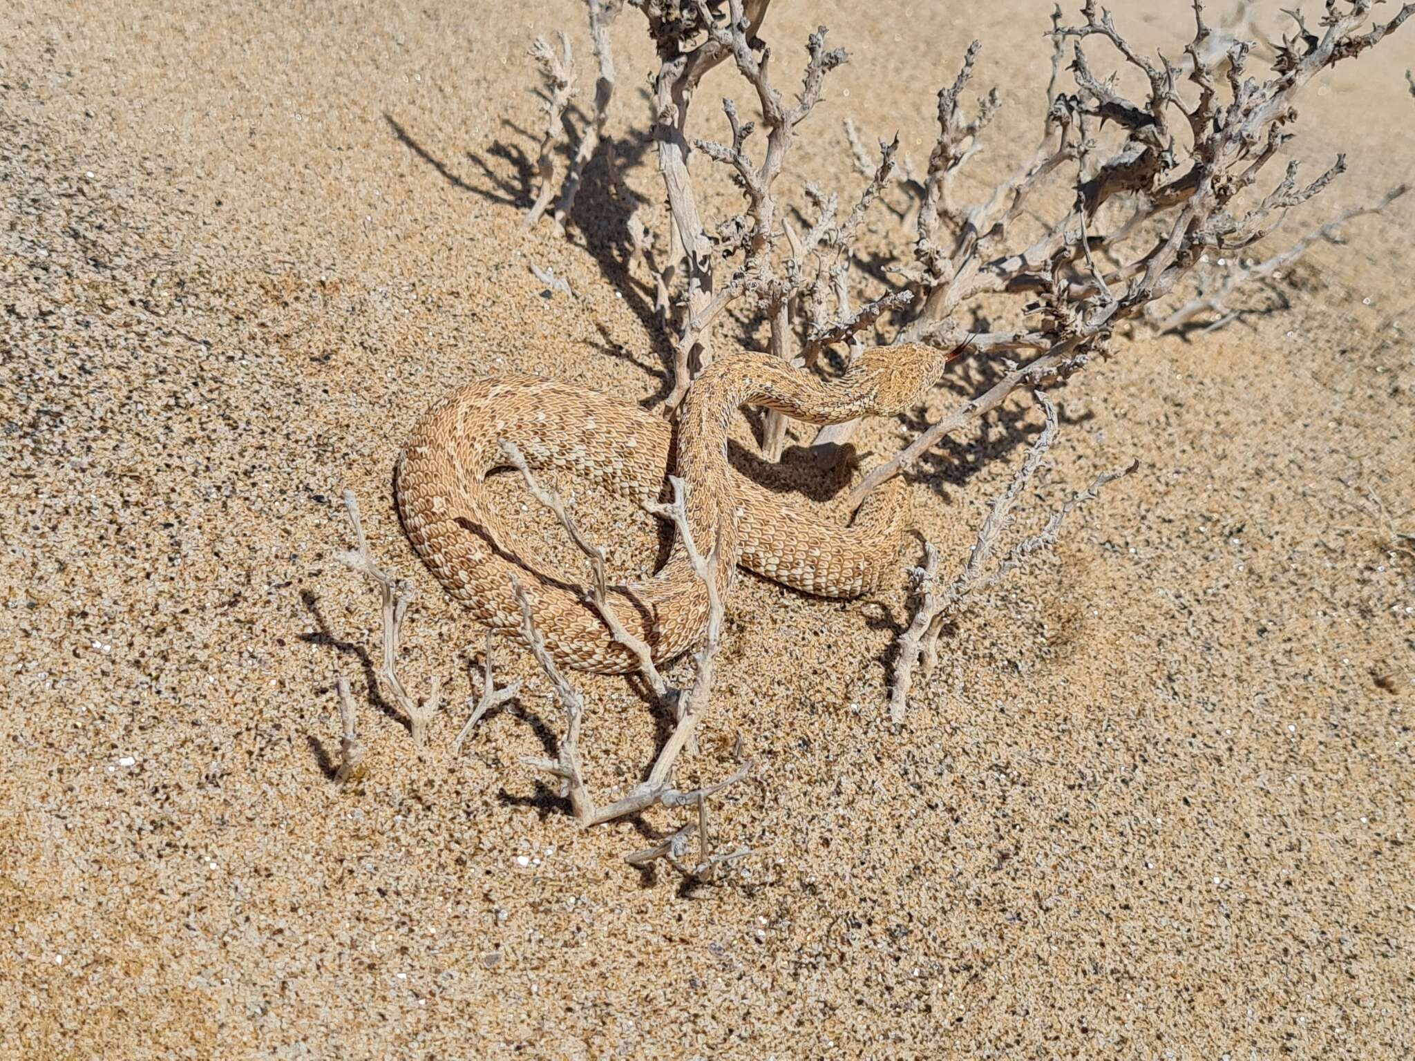
{"type": "MultiPolygon", "coordinates": [[[[413,547],[447,591],[483,624],[518,630],[519,577],[536,627],[558,662],[580,671],[638,668],[574,584],[518,562],[485,478],[505,467],[502,439],[532,467],[599,480],[618,494],[658,501],[668,471],[686,480],[688,525],[706,550],[717,542],[717,590],[726,597],[737,564],[822,597],[872,590],[899,556],[907,516],[903,484],[874,491],[850,526],[812,515],[740,475],[727,463],[727,429],[739,406],[778,409],[808,423],[894,414],[920,399],[949,354],[923,345],[873,347],[838,381],[822,383],[761,354],[733,354],[703,369],[689,388],[669,467],[672,427],[604,395],[552,379],[501,375],[475,379],[419,422],[399,458],[396,495],[413,547]]],[[[708,589],[676,542],[648,580],[611,589],[611,605],[655,659],[669,659],[702,637],[708,589]]]]}

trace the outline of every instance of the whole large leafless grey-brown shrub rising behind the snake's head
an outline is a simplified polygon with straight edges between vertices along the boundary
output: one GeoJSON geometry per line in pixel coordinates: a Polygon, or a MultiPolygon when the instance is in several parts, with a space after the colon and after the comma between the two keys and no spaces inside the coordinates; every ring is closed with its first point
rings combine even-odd
{"type": "MultiPolygon", "coordinates": [[[[666,306],[681,290],[685,307],[675,328],[668,405],[676,406],[686,390],[693,358],[699,365],[710,361],[713,320],[743,296],[750,294],[763,310],[771,351],[795,364],[799,345],[805,364],[814,368],[825,342],[842,337],[850,342],[846,332],[852,321],[870,325],[879,320],[873,310],[900,308],[897,301],[876,300],[872,313],[856,315],[850,310],[848,243],[863,209],[886,187],[883,174],[890,161],[886,158],[879,171],[872,168],[853,123],[846,123],[853,166],[872,181],[852,221],[835,225],[833,197],[816,197],[818,216],[804,239],[787,219],[778,221],[773,182],[782,173],[791,132],[811,112],[825,74],[843,54],[825,50],[824,30],[812,34],[802,91],[797,106],[788,108],[773,86],[770,51],[758,38],[768,0],[723,0],[726,17],[723,3],[706,0],[631,1],[645,13],[661,59],[655,140],[672,239],[668,265],[658,270],[659,304],[666,306]],[[730,141],[693,141],[732,167],[746,198],[744,212],[717,226],[723,253],[740,256],[740,267],[726,284],[715,284],[713,255],[688,178],[685,130],[692,89],[708,69],[729,58],[756,92],[768,136],[766,154],[751,158],[751,124],[727,102],[730,141]],[[774,249],[781,236],[790,245],[785,256],[774,249]],[[686,259],[683,277],[675,272],[681,259],[686,259]],[[828,308],[832,304],[835,321],[828,308]]],[[[1255,201],[1252,190],[1290,139],[1300,89],[1319,72],[1380,44],[1415,11],[1415,3],[1405,3],[1387,21],[1368,25],[1375,4],[1330,0],[1320,33],[1306,30],[1298,14],[1298,34],[1265,48],[1211,28],[1201,0],[1194,0],[1193,34],[1182,54],[1156,58],[1139,54],[1094,0],[1081,6],[1081,20],[1070,25],[1057,7],[1037,147],[989,194],[955,204],[952,178],[979,150],[981,134],[998,108],[995,92],[982,95],[972,109],[964,105],[979,62],[978,45],[971,45],[954,81],[938,93],[938,132],[927,174],[916,180],[906,173],[900,180],[920,208],[914,263],[893,270],[903,290],[914,294],[913,318],[894,341],[928,341],[959,355],[1027,351],[1032,361],[876,468],[856,491],[856,501],[911,467],[948,433],[995,410],[1017,386],[1064,379],[1095,355],[1107,355],[1116,327],[1153,313],[1156,301],[1207,252],[1231,253],[1261,239],[1286,211],[1320,194],[1341,173],[1344,160],[1305,185],[1289,168],[1255,201]],[[1114,74],[1097,64],[1091,50],[1098,47],[1109,50],[1116,64],[1138,71],[1146,91],[1129,98],[1114,74]],[[1249,61],[1264,54],[1271,55],[1271,72],[1251,76],[1249,61]],[[1058,83],[1067,57],[1071,92],[1058,83]],[[1043,231],[1029,242],[1015,239],[1013,222],[1030,216],[1040,190],[1058,178],[1070,181],[1071,207],[1039,216],[1043,231]],[[1126,216],[1118,219],[1119,204],[1126,205],[1126,216]],[[969,303],[996,294],[1017,296],[1010,314],[1015,320],[986,332],[959,321],[969,303]]],[[[1234,25],[1241,30],[1244,18],[1234,25]]],[[[989,317],[996,317],[992,308],[989,317]]],[[[853,424],[828,427],[818,441],[839,443],[850,430],[853,424]]],[[[784,422],[771,420],[764,440],[768,454],[780,450],[782,431],[784,422]]]]}

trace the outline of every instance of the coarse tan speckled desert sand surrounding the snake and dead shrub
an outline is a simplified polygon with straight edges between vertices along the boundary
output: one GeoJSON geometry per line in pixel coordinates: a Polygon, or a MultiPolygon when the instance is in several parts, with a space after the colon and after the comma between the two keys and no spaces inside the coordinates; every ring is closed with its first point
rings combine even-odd
{"type": "MultiPolygon", "coordinates": [[[[853,54],[792,195],[856,187],[845,115],[923,163],[972,35],[1003,112],[962,190],[1030,146],[1046,4],[781,7],[782,83],[815,21],[853,54]]],[[[1124,7],[1145,45],[1189,17],[1124,7]]],[[[625,188],[601,158],[569,240],[515,236],[541,124],[524,48],[559,25],[587,54],[570,0],[0,13],[0,1054],[1408,1057],[1415,556],[1368,498],[1412,528],[1415,207],[1316,249],[1286,308],[1119,341],[1061,393],[1029,525],[1140,470],[959,622],[901,730],[903,569],[843,604],[743,579],[682,779],[730,772],[740,738],[760,782],[716,829],[756,854],[683,888],[621,860],[672,816],[580,833],[518,764],[560,717],[509,642],[525,695],[453,754],[481,635],[391,502],[413,419],[468,375],[661,393],[624,266],[633,194],[664,232],[637,13],[625,188]],[[454,705],[422,753],[369,690],[345,485],[420,591],[405,675],[454,705]],[[335,671],[369,744],[344,789],[335,671]]],[[[1407,27],[1312,86],[1298,150],[1350,173],[1307,224],[1415,167],[1411,65],[1407,27]]],[[[709,81],[713,134],[722,91],[746,95],[709,81]]],[[[720,216],[733,190],[696,173],[720,216]]],[[[884,214],[872,239],[904,245],[884,214]]],[[[1036,430],[1017,402],[923,470],[916,523],[948,564],[1036,430]]],[[[863,441],[877,460],[901,426],[863,441]]],[[[579,511],[618,523],[621,572],[652,563],[645,518],[593,491],[579,511]]],[[[623,792],[664,723],[623,679],[582,686],[593,782],[623,792]]]]}

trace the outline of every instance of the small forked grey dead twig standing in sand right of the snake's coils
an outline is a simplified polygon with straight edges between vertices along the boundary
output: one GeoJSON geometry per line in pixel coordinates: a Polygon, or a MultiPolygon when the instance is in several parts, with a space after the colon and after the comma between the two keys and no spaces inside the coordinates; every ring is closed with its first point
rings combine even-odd
{"type": "Polygon", "coordinates": [[[890,685],[890,720],[900,723],[908,710],[908,692],[914,682],[914,668],[923,661],[924,673],[930,673],[938,662],[938,639],[944,624],[955,617],[968,601],[978,593],[995,586],[1010,570],[1026,562],[1036,553],[1056,545],[1061,521],[1067,518],[1078,505],[1098,497],[1101,487],[1112,480],[1129,475],[1139,467],[1133,461],[1124,468],[1102,472],[1084,491],[1067,501],[1051,514],[1040,533],[1017,542],[1002,562],[992,570],[989,563],[998,550],[1003,533],[1012,525],[1012,514],[1017,498],[1026,489],[1041,457],[1051,447],[1057,430],[1056,407],[1041,390],[1034,392],[1037,402],[1046,413],[1046,424],[1041,434],[1027,448],[1027,456],[1017,468],[1007,488],[996,498],[988,511],[988,518],[978,532],[978,540],[972,546],[968,562],[962,572],[947,589],[938,587],[938,550],[931,542],[924,543],[925,562],[923,567],[914,570],[914,583],[918,593],[918,605],[908,628],[899,638],[899,658],[894,662],[894,678],[890,685]]]}

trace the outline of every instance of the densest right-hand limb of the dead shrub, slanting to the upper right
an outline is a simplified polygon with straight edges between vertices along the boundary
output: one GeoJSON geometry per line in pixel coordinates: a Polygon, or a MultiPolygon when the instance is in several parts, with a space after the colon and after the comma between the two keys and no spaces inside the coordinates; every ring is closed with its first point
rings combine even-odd
{"type": "MultiPolygon", "coordinates": [[[[1016,388],[1065,379],[1095,355],[1105,355],[1116,325],[1142,317],[1204,253],[1231,252],[1261,239],[1286,209],[1320,194],[1344,168],[1344,160],[1339,158],[1306,185],[1298,184],[1296,170],[1289,167],[1266,195],[1247,209],[1240,208],[1240,195],[1257,184],[1261,170],[1289,137],[1292,100],[1302,86],[1320,71],[1374,47],[1415,13],[1415,3],[1407,3],[1391,20],[1357,33],[1373,6],[1374,0],[1332,0],[1323,34],[1303,33],[1285,40],[1275,50],[1272,75],[1258,81],[1247,76],[1249,45],[1213,47],[1214,31],[1204,23],[1203,4],[1196,0],[1194,35],[1184,50],[1187,81],[1197,96],[1193,103],[1180,92],[1180,65],[1140,57],[1094,1],[1082,6],[1082,24],[1057,25],[1054,40],[1073,45],[1075,95],[1054,95],[1043,147],[982,209],[968,212],[975,221],[955,238],[951,253],[945,256],[938,249],[932,215],[921,215],[916,257],[923,266],[920,283],[927,294],[918,317],[899,337],[900,341],[927,337],[938,345],[972,352],[975,338],[955,321],[955,308],[986,293],[1019,293],[1030,298],[1022,313],[1039,318],[1027,331],[1041,337],[1044,347],[988,393],[928,427],[874,468],[852,501],[863,499],[880,482],[911,467],[944,436],[999,407],[1016,388]],[[1143,99],[1125,98],[1114,79],[1092,72],[1084,50],[1091,40],[1105,42],[1145,75],[1149,92],[1143,99]],[[1105,150],[1092,139],[1092,129],[1098,134],[1101,120],[1116,130],[1105,150]],[[1170,129],[1176,120],[1187,126],[1189,149],[1176,146],[1179,139],[1170,129]],[[1016,216],[1020,201],[1043,178],[1064,168],[1063,163],[1075,163],[1068,214],[1029,246],[1005,249],[1007,219],[1016,216]],[[1121,199],[1140,202],[1143,215],[1108,228],[1102,208],[1121,199]],[[1124,240],[1140,232],[1150,233],[1148,242],[1126,250],[1124,240]],[[1119,255],[1119,265],[1102,272],[1095,257],[1099,250],[1119,255]]],[[[965,59],[955,86],[966,81],[968,71],[965,59]]],[[[942,120],[947,126],[947,116],[942,120]]],[[[958,156],[952,141],[938,153],[941,158],[958,156]]],[[[1005,332],[990,335],[998,342],[1005,332]]],[[[1003,345],[1013,341],[1002,338],[1003,345]]],[[[1026,345],[1037,348],[1032,341],[1026,345]]]]}

